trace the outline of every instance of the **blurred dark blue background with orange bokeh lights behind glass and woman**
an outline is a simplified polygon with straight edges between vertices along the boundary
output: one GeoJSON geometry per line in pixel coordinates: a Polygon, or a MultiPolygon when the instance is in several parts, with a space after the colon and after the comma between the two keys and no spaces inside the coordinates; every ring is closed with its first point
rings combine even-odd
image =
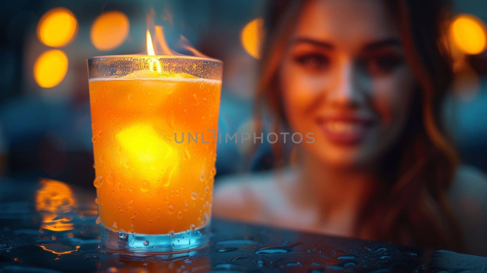
{"type": "MultiPolygon", "coordinates": [[[[200,52],[223,60],[219,130],[246,131],[265,35],[264,5],[263,0],[18,0],[2,5],[0,177],[47,177],[94,191],[86,59],[145,52],[151,7],[156,24],[165,25],[169,45],[184,35],[200,52]]],[[[487,2],[455,0],[453,8],[448,41],[455,81],[445,123],[462,162],[487,171],[487,2]]],[[[257,155],[247,149],[219,145],[217,176],[270,165],[268,146],[257,155]]]]}

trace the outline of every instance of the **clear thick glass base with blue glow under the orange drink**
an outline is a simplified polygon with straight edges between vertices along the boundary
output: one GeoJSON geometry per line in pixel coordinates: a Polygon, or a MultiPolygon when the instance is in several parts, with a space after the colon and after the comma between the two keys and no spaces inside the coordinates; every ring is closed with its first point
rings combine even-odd
{"type": "Polygon", "coordinates": [[[209,224],[196,230],[169,234],[114,232],[100,224],[100,251],[132,255],[157,255],[204,248],[210,241],[209,224]]]}

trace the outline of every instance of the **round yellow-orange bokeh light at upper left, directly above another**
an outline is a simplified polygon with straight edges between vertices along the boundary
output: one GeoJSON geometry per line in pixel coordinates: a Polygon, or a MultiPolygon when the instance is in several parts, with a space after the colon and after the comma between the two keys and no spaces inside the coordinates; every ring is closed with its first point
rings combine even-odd
{"type": "Polygon", "coordinates": [[[47,11],[37,23],[37,38],[51,47],[68,45],[76,36],[78,22],[67,8],[54,8],[47,11]]]}

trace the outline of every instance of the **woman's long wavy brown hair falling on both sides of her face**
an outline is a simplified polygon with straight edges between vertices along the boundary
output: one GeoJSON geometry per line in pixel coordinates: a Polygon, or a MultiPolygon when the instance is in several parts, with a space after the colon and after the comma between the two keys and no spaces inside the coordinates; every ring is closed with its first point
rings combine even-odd
{"type": "MultiPolygon", "coordinates": [[[[365,231],[377,240],[461,250],[461,232],[447,198],[458,161],[440,114],[452,78],[443,36],[448,9],[444,0],[383,1],[396,19],[417,89],[407,125],[380,163],[384,190],[359,213],[356,235],[365,231]]],[[[274,131],[286,124],[277,72],[303,2],[269,4],[255,104],[257,131],[262,129],[262,109],[271,110],[274,131]]],[[[282,147],[273,145],[273,152],[281,162],[282,147]]]]}

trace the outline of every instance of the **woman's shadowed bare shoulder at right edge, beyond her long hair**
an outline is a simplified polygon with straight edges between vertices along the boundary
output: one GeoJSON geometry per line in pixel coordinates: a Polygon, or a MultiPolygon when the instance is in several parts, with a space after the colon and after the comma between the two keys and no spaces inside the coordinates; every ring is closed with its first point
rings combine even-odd
{"type": "Polygon", "coordinates": [[[467,252],[487,255],[487,176],[472,166],[460,166],[449,189],[453,211],[463,229],[467,252]]]}

